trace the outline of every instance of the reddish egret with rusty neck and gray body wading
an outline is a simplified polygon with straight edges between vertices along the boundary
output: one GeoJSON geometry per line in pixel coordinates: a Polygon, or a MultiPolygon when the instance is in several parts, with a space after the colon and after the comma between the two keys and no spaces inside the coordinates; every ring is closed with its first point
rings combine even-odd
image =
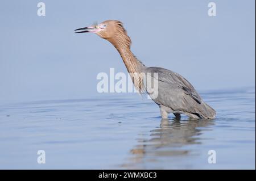
{"type": "Polygon", "coordinates": [[[134,73],[133,84],[139,92],[143,89],[148,92],[140,73],[157,73],[158,96],[152,100],[158,104],[162,119],[168,119],[169,113],[173,113],[176,119],[180,119],[181,114],[191,119],[213,119],[216,116],[216,111],[204,102],[187,79],[168,69],[147,67],[138,60],[131,52],[131,39],[119,20],[106,20],[100,24],[76,29],[75,32],[96,33],[112,43],[120,54],[127,71],[134,73]]]}

